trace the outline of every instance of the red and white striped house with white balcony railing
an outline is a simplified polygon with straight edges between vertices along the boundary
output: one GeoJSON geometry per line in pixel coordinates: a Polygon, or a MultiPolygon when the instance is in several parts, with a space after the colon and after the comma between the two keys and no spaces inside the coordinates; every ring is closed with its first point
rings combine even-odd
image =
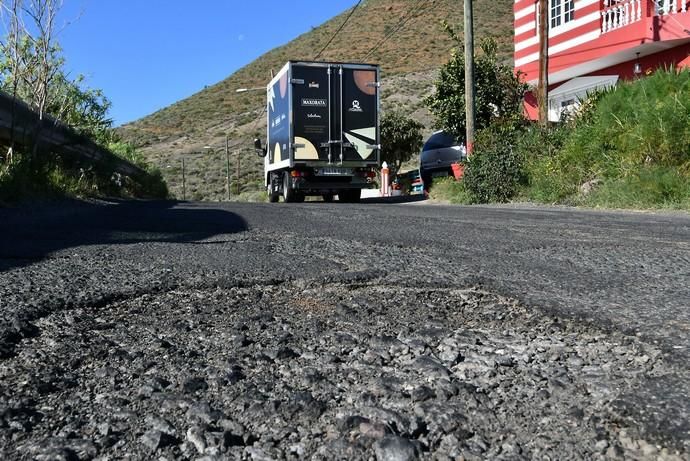
{"type": "MultiPolygon", "coordinates": [[[[690,66],[690,0],[547,0],[549,119],[593,90],[651,73],[690,66]]],[[[537,0],[516,0],[515,70],[536,86],[537,0]]],[[[537,119],[533,94],[525,109],[537,119]]]]}

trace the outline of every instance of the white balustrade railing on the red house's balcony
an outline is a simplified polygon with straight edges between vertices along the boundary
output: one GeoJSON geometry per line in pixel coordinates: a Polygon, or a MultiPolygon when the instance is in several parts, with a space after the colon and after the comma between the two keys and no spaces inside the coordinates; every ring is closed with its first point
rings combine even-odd
{"type": "MultiPolygon", "coordinates": [[[[601,32],[610,32],[633,24],[645,14],[643,5],[648,0],[604,0],[601,12],[601,32]]],[[[685,13],[688,11],[688,0],[653,0],[653,11],[657,16],[685,13]]]]}

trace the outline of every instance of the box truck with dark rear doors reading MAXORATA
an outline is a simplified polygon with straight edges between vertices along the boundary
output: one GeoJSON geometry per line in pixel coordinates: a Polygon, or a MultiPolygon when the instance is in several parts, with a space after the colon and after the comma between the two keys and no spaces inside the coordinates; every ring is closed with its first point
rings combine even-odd
{"type": "Polygon", "coordinates": [[[271,80],[266,146],[255,141],[271,202],[357,202],[376,187],[379,73],[371,64],[290,61],[271,80]]]}

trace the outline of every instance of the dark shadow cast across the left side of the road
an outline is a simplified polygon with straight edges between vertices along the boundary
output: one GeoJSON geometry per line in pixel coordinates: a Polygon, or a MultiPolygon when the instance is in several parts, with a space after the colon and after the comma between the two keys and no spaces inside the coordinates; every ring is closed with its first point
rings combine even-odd
{"type": "Polygon", "coordinates": [[[60,202],[0,209],[0,272],[82,245],[186,243],[247,230],[235,213],[174,201],[60,202]]]}

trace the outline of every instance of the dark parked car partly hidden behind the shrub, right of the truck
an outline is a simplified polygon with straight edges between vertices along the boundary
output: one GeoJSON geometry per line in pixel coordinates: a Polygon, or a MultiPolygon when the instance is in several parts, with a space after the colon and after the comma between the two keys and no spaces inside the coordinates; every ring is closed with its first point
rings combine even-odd
{"type": "Polygon", "coordinates": [[[432,134],[422,147],[419,156],[419,172],[428,189],[433,178],[453,176],[453,163],[465,160],[465,146],[445,131],[432,134]]]}

